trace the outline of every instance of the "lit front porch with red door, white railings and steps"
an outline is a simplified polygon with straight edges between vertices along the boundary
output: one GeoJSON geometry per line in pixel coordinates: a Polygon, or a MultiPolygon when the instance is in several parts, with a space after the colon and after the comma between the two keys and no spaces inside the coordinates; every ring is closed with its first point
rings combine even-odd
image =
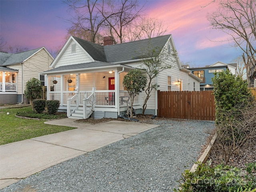
{"type": "MultiPolygon", "coordinates": [[[[59,100],[59,110],[66,111],[69,118],[124,116],[130,99],[122,85],[125,74],[107,71],[48,76],[47,100],[59,100]]],[[[133,107],[142,108],[140,95],[134,98],[133,107]]]]}

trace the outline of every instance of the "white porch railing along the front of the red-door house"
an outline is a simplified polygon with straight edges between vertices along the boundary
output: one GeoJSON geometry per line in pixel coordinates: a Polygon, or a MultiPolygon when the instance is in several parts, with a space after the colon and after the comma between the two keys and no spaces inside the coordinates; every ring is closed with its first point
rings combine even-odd
{"type": "MultiPolygon", "coordinates": [[[[88,98],[93,91],[80,91],[78,95],[78,105],[83,105],[83,100],[88,98]]],[[[67,106],[67,99],[72,98],[75,95],[75,92],[73,91],[65,91],[63,92],[63,95],[61,96],[61,92],[49,92],[49,99],[50,100],[59,100],[61,101],[62,97],[62,106],[67,106]]],[[[130,97],[127,91],[119,91],[119,105],[120,107],[127,106],[127,103],[129,103],[130,97]]],[[[109,107],[113,108],[115,107],[115,90],[95,90],[94,91],[94,101],[93,105],[94,107],[109,107]]],[[[140,104],[140,96],[137,95],[134,98],[134,106],[140,104]]]]}

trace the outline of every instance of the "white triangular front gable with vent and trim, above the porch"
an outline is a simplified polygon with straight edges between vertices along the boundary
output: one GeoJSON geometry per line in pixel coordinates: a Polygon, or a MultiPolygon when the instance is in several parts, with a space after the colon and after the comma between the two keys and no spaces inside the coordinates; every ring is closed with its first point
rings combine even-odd
{"type": "Polygon", "coordinates": [[[57,68],[60,66],[81,64],[94,62],[95,60],[82,48],[82,46],[72,37],[68,39],[63,46],[60,53],[56,56],[52,62],[51,67],[57,68]]]}

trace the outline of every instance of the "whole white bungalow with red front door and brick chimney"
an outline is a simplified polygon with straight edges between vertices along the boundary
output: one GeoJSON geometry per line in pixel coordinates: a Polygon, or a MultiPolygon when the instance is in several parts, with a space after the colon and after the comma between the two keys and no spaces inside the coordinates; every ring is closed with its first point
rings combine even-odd
{"type": "MultiPolygon", "coordinates": [[[[47,99],[59,100],[59,110],[67,110],[70,118],[117,118],[127,110],[128,92],[122,84],[129,70],[142,64],[141,52],[148,46],[176,50],[172,36],[113,44],[104,38],[104,46],[70,36],[51,64],[47,75],[47,99]],[[110,43],[110,44],[109,44],[110,43]],[[54,82],[56,80],[57,82],[54,82]],[[54,86],[54,90],[50,87],[54,86]]],[[[158,90],[200,90],[200,78],[182,68],[178,57],[173,67],[162,71],[156,78],[158,90]]],[[[171,61],[168,61],[171,62],[171,61]]],[[[146,114],[157,114],[157,91],[147,102],[146,114]]],[[[145,94],[135,98],[136,113],[142,112],[145,94]]]]}

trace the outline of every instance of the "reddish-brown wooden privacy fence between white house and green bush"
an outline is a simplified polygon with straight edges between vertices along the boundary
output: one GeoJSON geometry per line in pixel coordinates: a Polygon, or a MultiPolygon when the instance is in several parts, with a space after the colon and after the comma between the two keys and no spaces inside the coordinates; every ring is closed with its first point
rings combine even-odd
{"type": "Polygon", "coordinates": [[[213,91],[158,90],[158,117],[215,120],[213,91]]]}

